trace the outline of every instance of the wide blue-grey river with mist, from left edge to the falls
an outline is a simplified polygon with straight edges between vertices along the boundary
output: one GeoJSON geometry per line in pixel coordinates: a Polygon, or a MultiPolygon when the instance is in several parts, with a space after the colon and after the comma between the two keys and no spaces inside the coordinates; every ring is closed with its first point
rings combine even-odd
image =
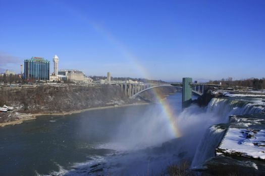
{"type": "Polygon", "coordinates": [[[176,93],[161,104],[41,116],[6,126],[0,129],[0,175],[166,172],[172,163],[192,162],[209,126],[228,122],[233,106],[212,103],[182,112],[181,93],[176,93]],[[220,112],[220,106],[225,112],[220,112]]]}

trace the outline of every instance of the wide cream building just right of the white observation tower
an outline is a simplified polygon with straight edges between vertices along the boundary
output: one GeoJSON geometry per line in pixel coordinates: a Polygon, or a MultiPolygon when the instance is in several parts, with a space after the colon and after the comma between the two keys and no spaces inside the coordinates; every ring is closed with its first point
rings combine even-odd
{"type": "Polygon", "coordinates": [[[84,73],[80,70],[61,69],[58,71],[58,76],[66,76],[72,82],[84,82],[84,73]]]}

